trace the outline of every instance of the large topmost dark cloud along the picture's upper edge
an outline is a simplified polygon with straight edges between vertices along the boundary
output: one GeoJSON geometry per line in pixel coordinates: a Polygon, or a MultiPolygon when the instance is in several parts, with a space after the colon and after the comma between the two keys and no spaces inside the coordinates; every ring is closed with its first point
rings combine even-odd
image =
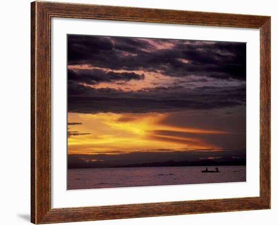
{"type": "Polygon", "coordinates": [[[246,79],[245,43],[153,40],[172,46],[158,49],[142,38],[68,35],[68,65],[160,71],[173,77],[246,79]]]}

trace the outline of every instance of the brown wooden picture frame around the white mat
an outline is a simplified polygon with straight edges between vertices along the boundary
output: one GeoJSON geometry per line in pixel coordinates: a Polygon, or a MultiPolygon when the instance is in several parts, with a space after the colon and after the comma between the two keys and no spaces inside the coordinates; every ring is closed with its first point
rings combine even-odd
{"type": "MultiPolygon", "coordinates": [[[[258,127],[259,128],[259,127],[258,127]]],[[[53,223],[270,208],[270,17],[31,3],[31,222],[53,223]],[[51,18],[140,21],[259,28],[260,196],[76,208],[51,207],[51,18]]]]}

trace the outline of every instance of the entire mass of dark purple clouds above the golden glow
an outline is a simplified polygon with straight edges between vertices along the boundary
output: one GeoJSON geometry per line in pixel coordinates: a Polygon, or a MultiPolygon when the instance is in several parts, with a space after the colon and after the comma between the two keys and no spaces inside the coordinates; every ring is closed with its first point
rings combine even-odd
{"type": "Polygon", "coordinates": [[[246,105],[245,43],[68,35],[68,65],[79,66],[68,69],[69,112],[166,113],[246,105]],[[157,74],[151,85],[141,83],[136,90],[88,86],[149,82],[149,72],[157,74]],[[163,75],[172,82],[163,83],[163,75]]]}

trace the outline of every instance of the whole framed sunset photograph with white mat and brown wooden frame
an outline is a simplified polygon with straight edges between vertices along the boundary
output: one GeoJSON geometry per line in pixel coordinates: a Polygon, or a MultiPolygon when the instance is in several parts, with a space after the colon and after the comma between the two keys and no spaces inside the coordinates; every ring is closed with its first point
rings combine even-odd
{"type": "Polygon", "coordinates": [[[270,17],[31,3],[31,222],[270,208],[270,17]]]}

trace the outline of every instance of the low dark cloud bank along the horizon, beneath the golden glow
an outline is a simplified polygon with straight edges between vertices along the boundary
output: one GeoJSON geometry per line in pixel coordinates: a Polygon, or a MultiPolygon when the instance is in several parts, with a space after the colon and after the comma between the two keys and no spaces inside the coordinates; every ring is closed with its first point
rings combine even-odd
{"type": "Polygon", "coordinates": [[[237,159],[245,159],[246,151],[240,149],[230,149],[225,151],[147,151],[147,152],[131,152],[120,154],[69,154],[68,168],[80,167],[110,167],[117,165],[135,164],[135,163],[151,163],[165,161],[199,161],[213,157],[214,161],[237,161],[237,159]]]}

